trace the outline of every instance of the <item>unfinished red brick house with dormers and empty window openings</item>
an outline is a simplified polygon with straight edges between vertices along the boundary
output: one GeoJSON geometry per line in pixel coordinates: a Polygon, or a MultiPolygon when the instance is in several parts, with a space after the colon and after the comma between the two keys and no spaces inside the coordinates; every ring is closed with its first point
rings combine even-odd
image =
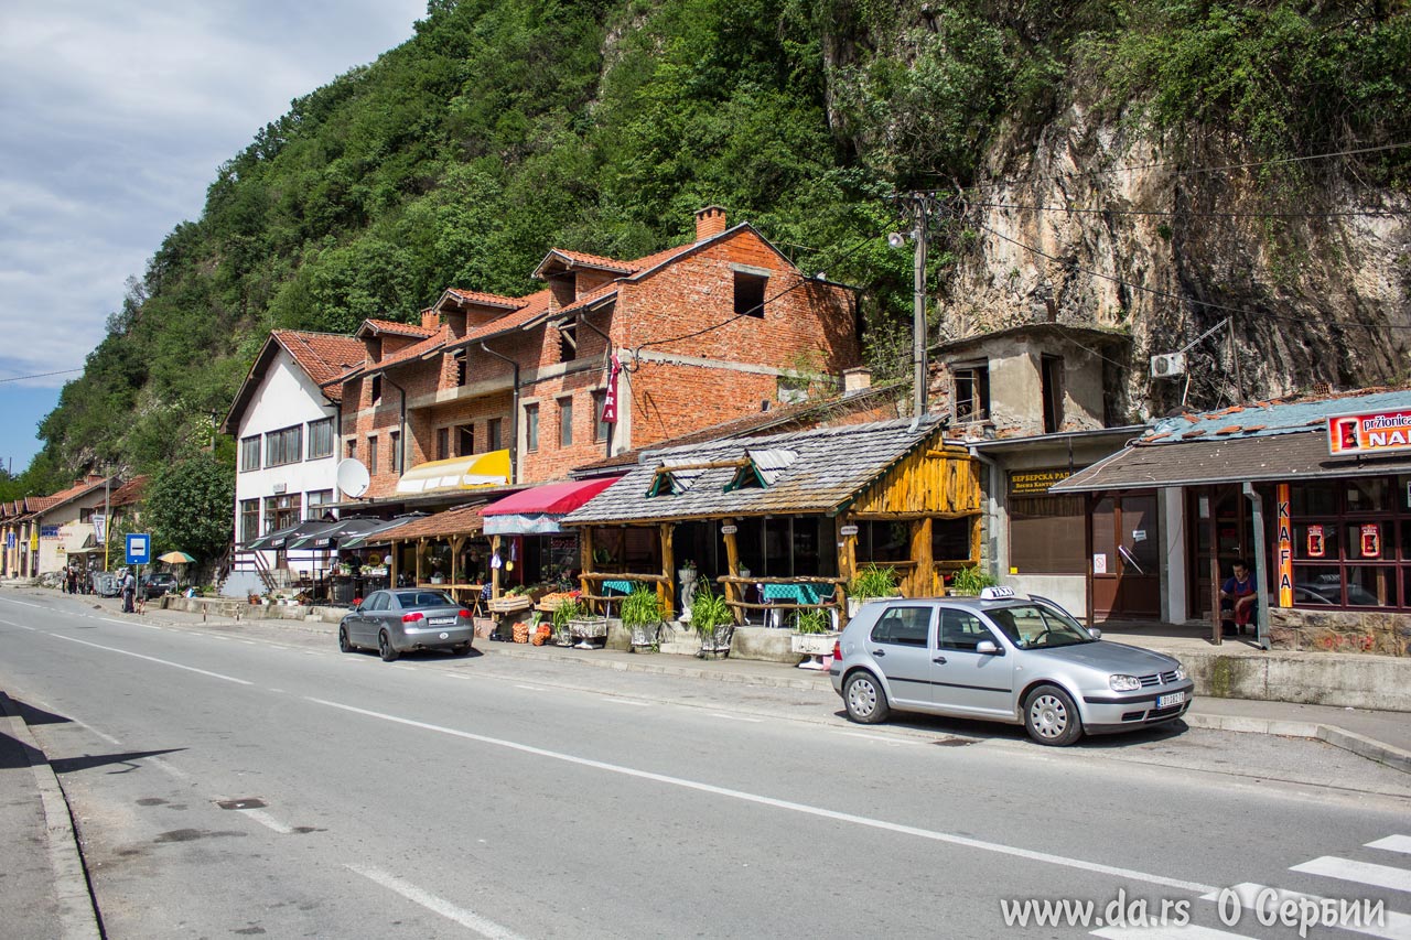
{"type": "Polygon", "coordinates": [[[696,213],[689,244],[635,261],[555,248],[533,277],[546,287],[528,296],[452,288],[420,325],[363,323],[365,361],[330,384],[343,387],[340,456],[367,466],[365,497],[395,497],[428,462],[499,450],[509,484],[562,480],[790,401],[861,358],[852,292],[806,277],[753,226],[727,227],[715,206],[696,213]]]}

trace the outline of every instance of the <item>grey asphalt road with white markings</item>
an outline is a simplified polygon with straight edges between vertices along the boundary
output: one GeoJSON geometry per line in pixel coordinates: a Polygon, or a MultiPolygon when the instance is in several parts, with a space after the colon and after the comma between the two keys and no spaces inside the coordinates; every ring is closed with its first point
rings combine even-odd
{"type": "Polygon", "coordinates": [[[1024,899],[1298,936],[1228,923],[1252,885],[1383,905],[1316,936],[1411,937],[1411,779],[1318,742],[861,728],[824,693],[37,591],[0,596],[0,642],[109,937],[1168,936],[1006,926],[1024,899]]]}

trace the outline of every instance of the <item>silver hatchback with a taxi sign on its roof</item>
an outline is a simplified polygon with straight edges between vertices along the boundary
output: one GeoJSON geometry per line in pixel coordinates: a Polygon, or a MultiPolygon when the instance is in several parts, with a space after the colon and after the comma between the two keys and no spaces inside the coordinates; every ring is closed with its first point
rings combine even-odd
{"type": "Polygon", "coordinates": [[[893,711],[1023,724],[1038,744],[1175,721],[1194,683],[1180,661],[1101,639],[1058,604],[1007,587],[979,598],[876,600],[834,648],[848,717],[893,711]]]}

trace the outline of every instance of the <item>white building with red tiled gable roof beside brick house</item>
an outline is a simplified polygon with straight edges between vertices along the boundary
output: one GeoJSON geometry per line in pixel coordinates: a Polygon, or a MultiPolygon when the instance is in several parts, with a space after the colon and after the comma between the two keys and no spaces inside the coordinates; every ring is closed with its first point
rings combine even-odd
{"type": "Polygon", "coordinates": [[[341,385],[320,388],[365,357],[351,336],[274,330],[236,394],[222,430],[236,438],[236,552],[222,587],[238,597],[315,577],[322,550],[284,550],[257,539],[322,519],[336,498],[341,385]]]}

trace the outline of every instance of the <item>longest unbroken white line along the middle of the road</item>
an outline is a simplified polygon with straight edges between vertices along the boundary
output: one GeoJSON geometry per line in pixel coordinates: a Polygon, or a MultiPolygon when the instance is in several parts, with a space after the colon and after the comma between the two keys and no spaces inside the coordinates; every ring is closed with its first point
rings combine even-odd
{"type": "Polygon", "coordinates": [[[789,810],[792,813],[803,813],[806,816],[817,816],[818,819],[827,819],[838,823],[851,823],[854,826],[864,826],[866,828],[876,828],[888,833],[897,833],[902,836],[914,836],[917,838],[928,838],[937,843],[947,843],[950,845],[962,845],[965,848],[976,848],[981,851],[996,852],[1000,855],[1010,855],[1013,858],[1026,858],[1029,861],[1041,862],[1047,865],[1061,865],[1064,868],[1075,868],[1078,871],[1091,871],[1099,875],[1112,875],[1123,881],[1141,881],[1150,885],[1160,885],[1163,888],[1174,888],[1177,891],[1187,891],[1192,895],[1204,895],[1211,891],[1218,891],[1213,885],[1202,885],[1195,881],[1181,881],[1180,878],[1165,878],[1164,875],[1151,875],[1143,871],[1134,871],[1132,868],[1119,868],[1116,865],[1101,865],[1098,862],[1084,861],[1081,858],[1068,858],[1064,855],[1053,855],[1050,852],[1033,851],[1029,848],[1017,848],[1015,845],[1003,845],[1000,843],[986,843],[979,838],[969,838],[967,836],[957,836],[954,833],[938,833],[930,828],[920,828],[917,826],[904,826],[902,823],[889,823],[880,819],[871,819],[866,816],[855,816],[852,813],[840,813],[837,810],[823,809],[821,806],[810,806],[807,803],[794,803],[793,800],[782,800],[773,796],[761,796],[759,793],[748,793],[745,790],[734,790],[725,786],[715,786],[714,783],[701,783],[698,781],[687,781],[680,776],[669,776],[666,773],[653,773],[650,771],[638,771],[636,768],[622,766],[619,764],[607,764],[604,761],[594,761],[591,758],[574,757],[571,754],[563,754],[560,751],[547,751],[545,748],[536,748],[529,744],[519,744],[516,741],[505,741],[502,738],[491,738],[484,734],[473,734],[470,731],[460,731],[457,728],[447,728],[439,724],[428,724],[425,721],[413,721],[412,718],[399,718],[392,714],[384,714],[381,711],[368,711],[367,709],[358,709],[356,706],[341,704],[337,701],[329,701],[326,699],[315,699],[312,696],[305,697],[306,701],[313,701],[315,704],[327,706],[330,709],[340,709],[343,711],[351,711],[353,714],[361,714],[368,718],[377,718],[380,721],[389,721],[392,724],[404,724],[412,728],[422,728],[423,731],[436,731],[439,734],[447,734],[456,738],[464,738],[466,741],[478,741],[480,744],[488,744],[498,748],[507,748],[509,751],[518,751],[521,754],[531,754],[535,757],[549,758],[552,761],[563,761],[566,764],[576,764],[579,766],[586,766],[594,771],[604,771],[608,773],[621,773],[622,776],[631,776],[641,781],[652,781],[653,783],[665,783],[666,786],[679,786],[687,790],[696,790],[698,793],[710,793],[713,796],[722,796],[727,799],[741,800],[745,803],[755,803],[758,806],[769,806],[773,809],[789,810]]]}

